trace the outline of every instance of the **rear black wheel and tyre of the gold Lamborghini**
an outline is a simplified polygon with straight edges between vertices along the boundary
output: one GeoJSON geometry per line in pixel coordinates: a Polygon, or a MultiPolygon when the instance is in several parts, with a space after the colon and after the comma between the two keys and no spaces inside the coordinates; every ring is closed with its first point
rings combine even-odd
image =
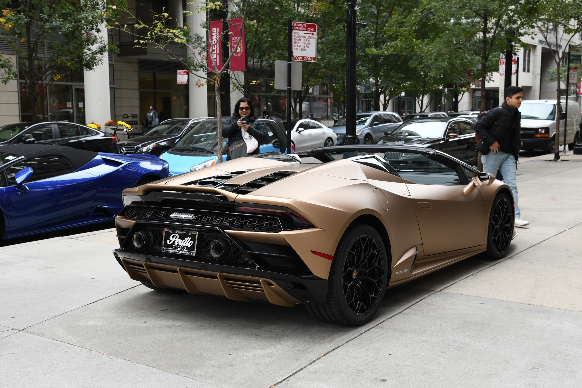
{"type": "Polygon", "coordinates": [[[357,326],[378,311],[388,283],[384,242],[370,225],[353,224],[344,233],[329,271],[328,301],[308,304],[318,319],[357,326]]]}

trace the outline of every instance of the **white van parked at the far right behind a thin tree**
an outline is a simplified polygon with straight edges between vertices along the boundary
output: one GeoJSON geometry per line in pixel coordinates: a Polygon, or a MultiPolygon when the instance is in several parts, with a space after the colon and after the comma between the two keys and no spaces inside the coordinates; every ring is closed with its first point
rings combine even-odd
{"type": "MultiPolygon", "coordinates": [[[[554,142],[564,143],[566,123],[566,100],[562,100],[560,115],[560,137],[556,139],[556,100],[526,100],[521,103],[521,149],[553,152],[554,142]]],[[[566,144],[569,149],[580,139],[580,105],[568,101],[568,126],[566,144]]]]}

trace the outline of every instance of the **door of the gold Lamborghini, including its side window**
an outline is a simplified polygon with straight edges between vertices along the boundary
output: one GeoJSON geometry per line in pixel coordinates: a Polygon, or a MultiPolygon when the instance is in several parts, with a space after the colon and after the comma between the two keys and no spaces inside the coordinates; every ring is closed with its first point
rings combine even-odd
{"type": "Polygon", "coordinates": [[[464,194],[469,181],[458,163],[430,152],[389,154],[409,181],[426,256],[485,244],[485,204],[478,190],[464,194]]]}

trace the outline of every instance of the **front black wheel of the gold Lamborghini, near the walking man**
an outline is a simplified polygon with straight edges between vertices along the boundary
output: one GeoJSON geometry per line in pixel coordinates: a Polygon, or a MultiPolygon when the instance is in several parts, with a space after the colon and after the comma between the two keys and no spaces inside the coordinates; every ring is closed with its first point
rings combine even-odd
{"type": "Polygon", "coordinates": [[[489,214],[487,253],[490,258],[501,259],[508,252],[514,223],[512,203],[507,195],[499,193],[493,201],[491,214],[489,214]]]}

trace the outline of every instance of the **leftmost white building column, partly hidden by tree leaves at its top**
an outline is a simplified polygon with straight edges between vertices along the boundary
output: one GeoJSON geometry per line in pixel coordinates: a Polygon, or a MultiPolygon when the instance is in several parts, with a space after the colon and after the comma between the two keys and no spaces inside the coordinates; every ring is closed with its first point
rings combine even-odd
{"type": "MultiPolygon", "coordinates": [[[[97,33],[107,41],[107,29],[101,27],[97,33]]],[[[84,70],[85,87],[85,121],[105,125],[111,117],[111,100],[109,99],[109,56],[107,52],[101,63],[93,70],[84,70]]]]}

